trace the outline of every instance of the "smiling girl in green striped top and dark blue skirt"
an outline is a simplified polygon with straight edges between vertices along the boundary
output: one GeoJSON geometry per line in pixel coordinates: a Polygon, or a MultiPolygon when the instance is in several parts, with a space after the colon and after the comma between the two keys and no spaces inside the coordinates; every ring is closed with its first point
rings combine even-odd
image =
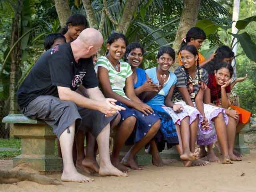
{"type": "Polygon", "coordinates": [[[134,156],[152,140],[160,127],[159,117],[134,92],[132,69],[128,63],[121,60],[126,52],[126,45],[127,39],[123,34],[113,33],[106,43],[106,56],[99,57],[96,64],[103,94],[118,100],[116,103],[126,108],[120,113],[120,126],[114,138],[111,154],[112,164],[124,172],[128,171],[125,166],[136,170],[142,169],[134,161],[134,156]],[[134,145],[124,156],[121,164],[120,150],[132,132],[134,145]]]}

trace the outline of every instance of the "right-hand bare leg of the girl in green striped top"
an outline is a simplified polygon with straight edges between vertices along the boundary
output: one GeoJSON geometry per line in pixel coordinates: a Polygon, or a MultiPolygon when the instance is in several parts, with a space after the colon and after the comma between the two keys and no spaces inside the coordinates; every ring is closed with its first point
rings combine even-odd
{"type": "Polygon", "coordinates": [[[135,170],[142,170],[142,168],[140,168],[138,164],[136,164],[136,162],[134,161],[134,156],[139,152],[139,150],[142,147],[148,144],[148,142],[150,142],[150,140],[156,135],[156,133],[160,128],[160,124],[161,124],[161,120],[158,120],[157,122],[155,122],[154,125],[150,128],[150,130],[148,130],[147,134],[141,140],[136,142],[132,146],[132,148],[130,148],[130,150],[122,159],[122,164],[124,164],[125,166],[129,166],[130,168],[135,170]]]}

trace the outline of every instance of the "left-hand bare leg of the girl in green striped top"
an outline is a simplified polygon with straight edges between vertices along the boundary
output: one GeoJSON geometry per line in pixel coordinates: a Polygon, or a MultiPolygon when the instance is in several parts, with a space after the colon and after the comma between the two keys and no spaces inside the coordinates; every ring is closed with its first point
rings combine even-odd
{"type": "Polygon", "coordinates": [[[119,126],[116,136],[114,138],[114,147],[111,154],[111,162],[116,168],[118,168],[122,172],[128,172],[128,168],[120,163],[119,153],[125,141],[132,134],[136,120],[137,119],[134,116],[126,118],[119,126]]]}

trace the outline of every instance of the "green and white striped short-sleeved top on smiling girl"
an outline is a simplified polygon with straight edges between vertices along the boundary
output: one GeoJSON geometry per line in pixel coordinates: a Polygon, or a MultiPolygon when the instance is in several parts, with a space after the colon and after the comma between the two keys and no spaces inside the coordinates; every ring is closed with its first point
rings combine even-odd
{"type": "Polygon", "coordinates": [[[112,66],[110,61],[105,56],[98,57],[97,64],[95,66],[96,71],[98,67],[104,67],[108,70],[108,76],[110,80],[110,85],[112,90],[118,94],[123,96],[124,98],[128,99],[126,94],[124,93],[124,87],[125,87],[125,80],[129,76],[132,75],[132,68],[130,64],[127,62],[123,62],[119,60],[120,62],[120,72],[117,72],[115,68],[112,66]]]}

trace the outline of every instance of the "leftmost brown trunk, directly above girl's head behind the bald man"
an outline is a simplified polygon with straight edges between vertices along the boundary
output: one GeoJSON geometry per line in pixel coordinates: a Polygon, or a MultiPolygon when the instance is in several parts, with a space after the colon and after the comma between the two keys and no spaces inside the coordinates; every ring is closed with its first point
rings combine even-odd
{"type": "Polygon", "coordinates": [[[60,26],[63,28],[66,26],[66,22],[71,15],[68,0],[54,0],[55,8],[60,21],[60,26]]]}

